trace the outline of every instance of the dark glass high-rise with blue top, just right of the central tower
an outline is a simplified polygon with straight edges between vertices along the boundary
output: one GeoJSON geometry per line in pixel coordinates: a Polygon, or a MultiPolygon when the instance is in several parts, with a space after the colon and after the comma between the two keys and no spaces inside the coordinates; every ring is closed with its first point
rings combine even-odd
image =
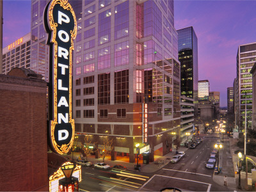
{"type": "Polygon", "coordinates": [[[198,95],[198,49],[193,27],[177,30],[180,61],[180,93],[186,97],[198,95]]]}

